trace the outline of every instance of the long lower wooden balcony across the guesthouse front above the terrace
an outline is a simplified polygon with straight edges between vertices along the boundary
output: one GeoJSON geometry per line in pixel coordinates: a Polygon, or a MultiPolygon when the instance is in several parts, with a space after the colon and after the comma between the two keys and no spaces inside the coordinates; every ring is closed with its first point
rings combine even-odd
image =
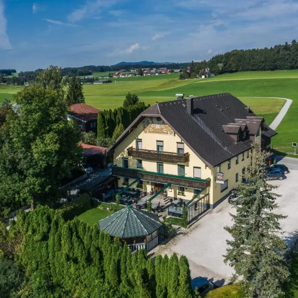
{"type": "Polygon", "coordinates": [[[199,179],[185,176],[177,176],[170,174],[161,174],[156,172],[148,172],[137,169],[129,169],[118,166],[112,167],[112,175],[126,178],[140,178],[141,180],[156,183],[171,183],[172,185],[190,187],[194,189],[206,188],[210,185],[210,180],[199,179]]]}

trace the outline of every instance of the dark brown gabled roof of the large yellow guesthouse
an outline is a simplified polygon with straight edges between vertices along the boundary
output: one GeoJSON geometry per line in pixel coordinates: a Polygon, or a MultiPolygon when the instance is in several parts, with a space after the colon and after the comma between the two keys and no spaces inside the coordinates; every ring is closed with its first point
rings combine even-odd
{"type": "MultiPolygon", "coordinates": [[[[187,101],[178,99],[156,103],[141,113],[137,119],[109,148],[117,144],[146,116],[160,117],[206,164],[216,166],[225,160],[251,148],[252,141],[235,142],[224,132],[223,125],[235,123],[235,119],[243,119],[250,134],[257,133],[262,117],[257,117],[238,98],[229,93],[208,95],[193,98],[193,114],[187,111],[187,101]],[[250,119],[246,117],[257,117],[250,119]],[[255,123],[254,123],[255,122],[255,123]]],[[[265,138],[277,133],[263,124],[265,138]]]]}

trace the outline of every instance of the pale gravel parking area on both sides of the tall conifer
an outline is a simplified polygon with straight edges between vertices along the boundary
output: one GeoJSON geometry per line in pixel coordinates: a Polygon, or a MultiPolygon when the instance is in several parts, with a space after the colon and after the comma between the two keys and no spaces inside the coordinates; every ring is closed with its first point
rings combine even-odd
{"type": "MultiPolygon", "coordinates": [[[[289,245],[292,245],[298,237],[298,159],[293,159],[284,158],[279,161],[290,169],[287,179],[269,182],[279,186],[275,191],[281,195],[277,199],[279,208],[276,212],[288,216],[280,224],[285,232],[283,238],[289,245]]],[[[162,255],[171,255],[173,252],[185,255],[190,263],[192,278],[203,276],[218,286],[227,284],[233,273],[229,266],[224,265],[223,257],[227,247],[225,240],[229,238],[224,226],[231,224],[230,212],[233,212],[232,208],[224,201],[191,226],[186,233],[181,233],[168,243],[159,245],[154,252],[162,255]]]]}

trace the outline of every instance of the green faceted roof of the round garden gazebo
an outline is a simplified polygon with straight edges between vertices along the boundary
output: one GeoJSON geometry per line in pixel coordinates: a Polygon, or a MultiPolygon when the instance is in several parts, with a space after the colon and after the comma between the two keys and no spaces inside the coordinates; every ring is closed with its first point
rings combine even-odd
{"type": "Polygon", "coordinates": [[[157,216],[131,205],[99,221],[101,230],[121,239],[149,235],[161,225],[157,216]]]}

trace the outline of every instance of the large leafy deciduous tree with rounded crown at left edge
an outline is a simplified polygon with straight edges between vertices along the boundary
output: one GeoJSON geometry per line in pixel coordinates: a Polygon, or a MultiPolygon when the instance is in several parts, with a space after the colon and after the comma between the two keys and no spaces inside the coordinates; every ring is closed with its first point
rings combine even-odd
{"type": "Polygon", "coordinates": [[[33,85],[15,95],[17,115],[0,130],[0,212],[56,197],[79,162],[80,132],[59,91],[33,85]]]}

